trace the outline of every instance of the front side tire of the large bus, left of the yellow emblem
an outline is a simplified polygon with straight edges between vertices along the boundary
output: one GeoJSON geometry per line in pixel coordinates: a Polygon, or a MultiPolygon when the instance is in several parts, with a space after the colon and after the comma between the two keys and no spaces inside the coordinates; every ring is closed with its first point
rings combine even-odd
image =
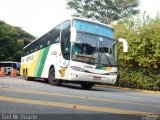
{"type": "Polygon", "coordinates": [[[61,85],[61,81],[55,79],[55,69],[51,68],[48,75],[48,82],[50,85],[59,86],[61,85]]]}

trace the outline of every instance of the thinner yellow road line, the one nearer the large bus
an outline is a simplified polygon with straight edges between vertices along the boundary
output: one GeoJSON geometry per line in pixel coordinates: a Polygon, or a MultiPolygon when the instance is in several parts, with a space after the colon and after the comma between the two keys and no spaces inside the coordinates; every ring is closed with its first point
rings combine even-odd
{"type": "Polygon", "coordinates": [[[75,95],[67,95],[67,94],[60,94],[60,93],[49,93],[49,92],[35,91],[35,90],[28,90],[28,89],[16,89],[16,88],[13,88],[13,87],[12,88],[0,88],[0,89],[7,90],[7,91],[14,91],[14,92],[22,92],[22,93],[41,94],[41,95],[58,96],[58,97],[69,97],[69,98],[78,98],[78,99],[104,101],[104,102],[115,102],[115,103],[122,103],[122,104],[141,105],[141,106],[160,108],[160,106],[158,106],[158,105],[149,105],[149,104],[142,104],[142,103],[135,103],[135,102],[126,102],[126,101],[113,100],[113,99],[75,96],[75,95]]]}

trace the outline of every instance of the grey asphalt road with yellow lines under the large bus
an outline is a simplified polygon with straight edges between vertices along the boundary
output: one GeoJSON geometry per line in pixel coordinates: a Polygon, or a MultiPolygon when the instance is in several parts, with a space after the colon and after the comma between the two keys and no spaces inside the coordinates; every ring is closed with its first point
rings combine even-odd
{"type": "Polygon", "coordinates": [[[160,94],[0,78],[0,119],[159,120],[160,94]]]}

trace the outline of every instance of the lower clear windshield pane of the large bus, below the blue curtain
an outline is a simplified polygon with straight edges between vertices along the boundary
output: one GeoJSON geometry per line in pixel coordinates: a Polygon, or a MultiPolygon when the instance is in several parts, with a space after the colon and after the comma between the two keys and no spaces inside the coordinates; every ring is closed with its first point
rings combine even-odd
{"type": "Polygon", "coordinates": [[[71,58],[88,64],[117,66],[116,42],[106,37],[77,32],[71,58]]]}

